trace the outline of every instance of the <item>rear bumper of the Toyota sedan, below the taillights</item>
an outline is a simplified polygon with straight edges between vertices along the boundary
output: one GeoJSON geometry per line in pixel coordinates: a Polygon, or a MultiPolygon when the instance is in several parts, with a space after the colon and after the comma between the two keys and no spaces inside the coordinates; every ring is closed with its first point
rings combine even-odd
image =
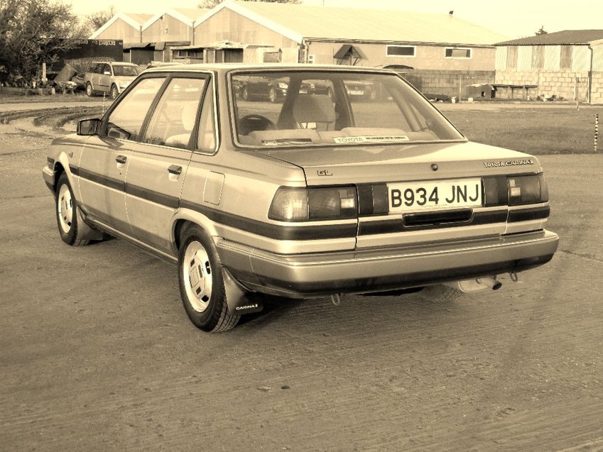
{"type": "Polygon", "coordinates": [[[363,293],[521,271],[547,263],[559,238],[550,231],[457,243],[276,255],[224,240],[222,264],[244,286],[288,297],[363,293]]]}

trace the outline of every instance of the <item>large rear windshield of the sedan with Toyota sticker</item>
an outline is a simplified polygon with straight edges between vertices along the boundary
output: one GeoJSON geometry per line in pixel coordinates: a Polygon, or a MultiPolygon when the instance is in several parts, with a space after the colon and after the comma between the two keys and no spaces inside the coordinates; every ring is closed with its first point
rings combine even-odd
{"type": "Polygon", "coordinates": [[[231,76],[240,145],[370,145],[463,140],[396,74],[261,71],[231,76]]]}

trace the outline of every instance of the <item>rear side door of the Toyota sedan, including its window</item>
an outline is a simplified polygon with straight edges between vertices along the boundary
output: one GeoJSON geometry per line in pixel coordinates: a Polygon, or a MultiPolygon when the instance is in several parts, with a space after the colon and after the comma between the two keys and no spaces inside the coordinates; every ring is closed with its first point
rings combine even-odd
{"type": "Polygon", "coordinates": [[[172,218],[189,165],[207,75],[168,79],[126,175],[126,209],[135,238],[171,252],[172,218]]]}

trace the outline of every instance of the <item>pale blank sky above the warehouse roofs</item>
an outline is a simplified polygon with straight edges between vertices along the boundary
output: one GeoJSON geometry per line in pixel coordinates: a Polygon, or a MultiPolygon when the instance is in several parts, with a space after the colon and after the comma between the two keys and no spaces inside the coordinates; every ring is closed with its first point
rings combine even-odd
{"type": "MultiPolygon", "coordinates": [[[[195,8],[198,0],[130,0],[121,4],[114,0],[64,0],[73,11],[86,15],[109,9],[127,13],[158,13],[166,7],[195,8]],[[124,5],[124,6],[121,6],[124,5]]],[[[603,0],[303,0],[313,6],[344,8],[401,9],[447,14],[477,23],[509,38],[532,36],[540,27],[552,33],[562,30],[603,30],[603,0]]]]}

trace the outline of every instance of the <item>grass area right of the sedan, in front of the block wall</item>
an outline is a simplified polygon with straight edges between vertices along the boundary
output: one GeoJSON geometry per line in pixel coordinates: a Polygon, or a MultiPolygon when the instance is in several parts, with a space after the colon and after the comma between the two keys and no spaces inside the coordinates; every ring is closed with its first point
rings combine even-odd
{"type": "Polygon", "coordinates": [[[594,153],[594,114],[603,121],[603,108],[442,110],[469,140],[536,155],[594,153]]]}

